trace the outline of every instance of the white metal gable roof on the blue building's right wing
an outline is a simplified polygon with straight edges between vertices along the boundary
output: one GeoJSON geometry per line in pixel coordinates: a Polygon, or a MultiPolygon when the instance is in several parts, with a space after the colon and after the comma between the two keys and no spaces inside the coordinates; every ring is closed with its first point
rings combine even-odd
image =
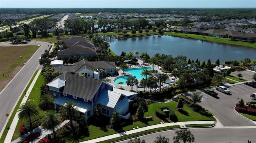
{"type": "Polygon", "coordinates": [[[102,90],[99,98],[96,100],[96,103],[100,102],[101,105],[114,108],[121,95],[122,94],[118,92],[113,92],[110,90],[102,90]]]}

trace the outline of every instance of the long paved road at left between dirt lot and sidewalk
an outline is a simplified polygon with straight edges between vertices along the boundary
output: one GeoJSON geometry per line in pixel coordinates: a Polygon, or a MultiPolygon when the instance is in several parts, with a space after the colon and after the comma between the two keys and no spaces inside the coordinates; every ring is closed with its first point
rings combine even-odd
{"type": "MultiPolygon", "coordinates": [[[[1,43],[1,46],[10,46],[10,42],[1,43]]],[[[9,84],[0,93],[0,129],[1,134],[3,127],[7,123],[6,113],[10,114],[13,111],[16,102],[24,92],[28,82],[32,78],[34,72],[38,69],[38,58],[44,53],[45,49],[48,49],[50,43],[37,41],[37,45],[41,47],[34,53],[30,60],[22,67],[22,69],[14,76],[9,84]]],[[[28,45],[35,45],[35,41],[31,41],[28,45]]],[[[12,45],[13,46],[13,45],[12,45]]]]}

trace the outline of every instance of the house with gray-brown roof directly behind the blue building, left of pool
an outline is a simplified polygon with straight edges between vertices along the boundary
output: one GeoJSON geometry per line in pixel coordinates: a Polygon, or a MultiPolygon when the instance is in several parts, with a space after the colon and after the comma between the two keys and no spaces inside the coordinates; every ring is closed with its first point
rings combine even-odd
{"type": "Polygon", "coordinates": [[[106,69],[106,73],[110,75],[114,75],[116,71],[116,64],[115,62],[108,62],[108,61],[86,61],[81,60],[74,65],[78,65],[74,69],[74,74],[77,75],[84,75],[90,78],[96,78],[94,72],[98,72],[98,67],[103,67],[106,69]]]}

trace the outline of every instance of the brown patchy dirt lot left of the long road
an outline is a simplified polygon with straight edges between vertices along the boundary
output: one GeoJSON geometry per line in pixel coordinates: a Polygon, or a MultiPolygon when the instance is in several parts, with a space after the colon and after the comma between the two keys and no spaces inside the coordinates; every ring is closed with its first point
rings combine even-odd
{"type": "Polygon", "coordinates": [[[38,48],[34,45],[0,46],[0,90],[12,80],[38,48]],[[21,57],[20,57],[21,56],[21,57]],[[3,76],[4,75],[4,76],[3,76]]]}

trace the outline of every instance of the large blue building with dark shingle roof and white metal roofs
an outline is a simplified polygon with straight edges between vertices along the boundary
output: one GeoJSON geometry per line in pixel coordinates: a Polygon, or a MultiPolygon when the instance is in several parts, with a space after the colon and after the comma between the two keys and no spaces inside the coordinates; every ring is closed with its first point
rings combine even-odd
{"type": "Polygon", "coordinates": [[[134,92],[114,91],[114,86],[103,80],[75,74],[70,74],[66,80],[56,78],[46,85],[49,86],[50,95],[55,99],[56,107],[74,101],[78,104],[75,108],[83,113],[86,119],[94,116],[94,106],[97,103],[101,104],[102,115],[111,118],[113,112],[119,112],[121,118],[128,119],[130,118],[128,96],[137,95],[134,92]]]}

